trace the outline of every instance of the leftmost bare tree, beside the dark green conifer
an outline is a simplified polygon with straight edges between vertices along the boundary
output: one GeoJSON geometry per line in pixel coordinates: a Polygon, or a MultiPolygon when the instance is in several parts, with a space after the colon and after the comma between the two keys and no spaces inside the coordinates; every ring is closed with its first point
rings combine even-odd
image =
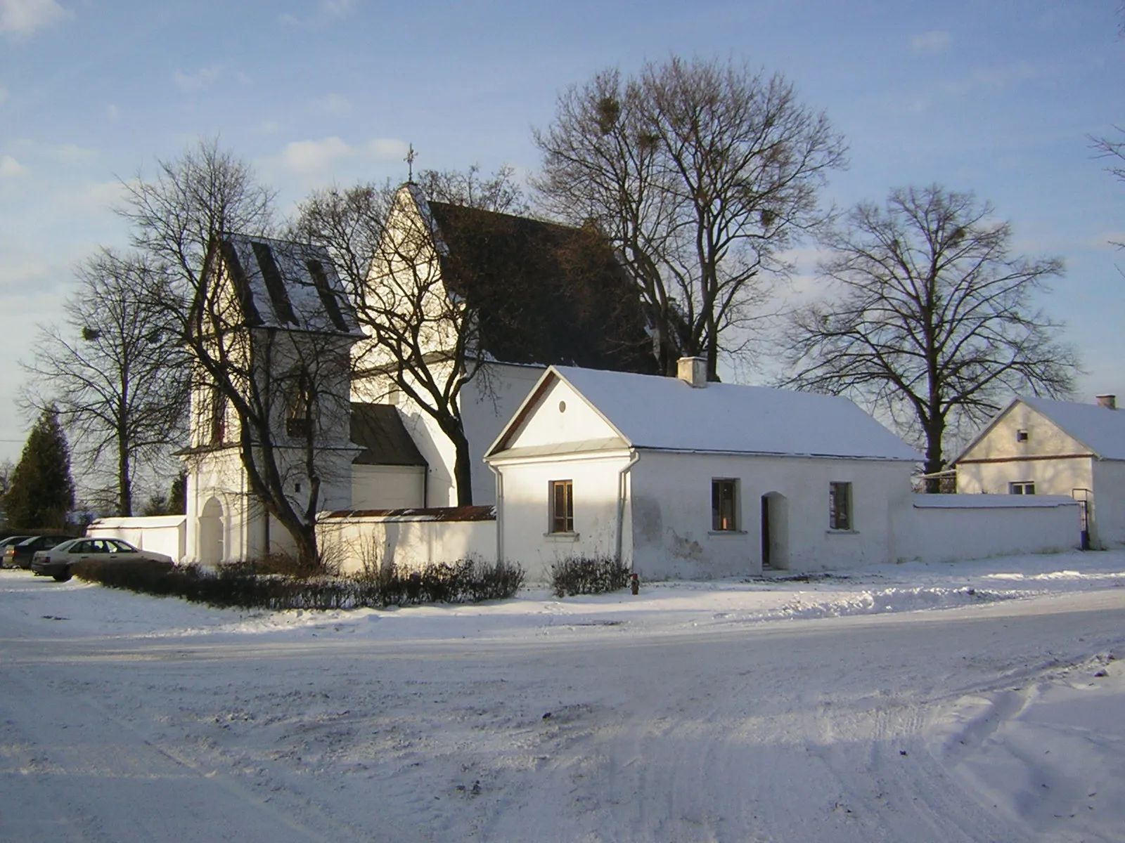
{"type": "Polygon", "coordinates": [[[118,515],[133,515],[137,472],[186,438],[189,366],[166,275],[143,255],[102,251],[79,270],[63,326],[43,328],[27,395],[56,407],[92,474],[112,477],[118,515]]]}

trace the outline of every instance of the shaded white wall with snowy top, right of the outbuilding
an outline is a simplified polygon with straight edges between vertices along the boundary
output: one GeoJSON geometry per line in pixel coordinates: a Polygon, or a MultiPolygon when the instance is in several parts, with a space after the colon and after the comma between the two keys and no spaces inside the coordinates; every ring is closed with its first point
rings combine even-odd
{"type": "Polygon", "coordinates": [[[900,560],[1058,553],[1081,543],[1078,501],[1054,495],[915,495],[896,524],[900,560]]]}

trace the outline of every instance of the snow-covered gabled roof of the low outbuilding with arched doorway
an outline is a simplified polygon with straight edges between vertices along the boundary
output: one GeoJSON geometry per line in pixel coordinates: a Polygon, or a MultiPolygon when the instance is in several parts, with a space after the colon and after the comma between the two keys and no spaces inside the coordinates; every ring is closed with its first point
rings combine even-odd
{"type": "Polygon", "coordinates": [[[633,448],[918,462],[921,456],[847,398],[767,387],[551,366],[488,450],[496,456],[557,381],[633,448]]]}

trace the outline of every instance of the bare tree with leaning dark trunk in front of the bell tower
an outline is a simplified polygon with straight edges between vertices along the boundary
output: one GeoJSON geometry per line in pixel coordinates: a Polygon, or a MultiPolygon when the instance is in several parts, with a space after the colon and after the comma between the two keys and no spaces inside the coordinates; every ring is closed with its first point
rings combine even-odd
{"type": "MultiPolygon", "coordinates": [[[[232,279],[217,271],[231,235],[270,230],[273,193],[215,140],[158,162],[155,178],[138,175],[124,188],[126,203],[119,212],[133,224],[134,245],[165,268],[178,292],[172,311],[200,379],[197,387],[212,390],[212,420],[222,427],[226,414],[233,416],[236,438],[231,444],[237,447],[251,498],[291,536],[302,565],[318,564],[315,515],[322,502],[323,453],[317,427],[298,420],[290,437],[279,424],[279,408],[296,396],[287,410],[294,419],[323,418],[321,410],[330,401],[317,390],[339,381],[326,375],[339,375],[341,365],[346,382],[346,350],[341,354],[341,341],[332,332],[320,337],[312,332],[306,343],[284,341],[255,318],[237,280],[232,287],[232,279]],[[284,371],[264,372],[262,361],[274,354],[286,361],[284,371]],[[303,453],[299,466],[286,457],[294,445],[303,453]],[[307,482],[299,495],[291,477],[297,469],[307,482]]],[[[341,410],[333,411],[336,418],[341,410]]]]}

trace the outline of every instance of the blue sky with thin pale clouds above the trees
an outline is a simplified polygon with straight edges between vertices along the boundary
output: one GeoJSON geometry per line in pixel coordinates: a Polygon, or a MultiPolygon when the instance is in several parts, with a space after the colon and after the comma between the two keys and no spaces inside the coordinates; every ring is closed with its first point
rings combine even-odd
{"type": "Polygon", "coordinates": [[[1125,184],[1087,139],[1125,126],[1118,7],[0,0],[0,459],[26,436],[16,361],[35,325],[76,262],[126,243],[118,179],[215,135],[282,210],[333,180],[405,179],[407,143],[421,167],[523,174],[562,88],[673,53],[781,71],[825,109],[850,160],[826,200],[933,182],[991,200],[1018,250],[1066,263],[1043,305],[1082,353],[1079,397],[1125,398],[1125,184]]]}

